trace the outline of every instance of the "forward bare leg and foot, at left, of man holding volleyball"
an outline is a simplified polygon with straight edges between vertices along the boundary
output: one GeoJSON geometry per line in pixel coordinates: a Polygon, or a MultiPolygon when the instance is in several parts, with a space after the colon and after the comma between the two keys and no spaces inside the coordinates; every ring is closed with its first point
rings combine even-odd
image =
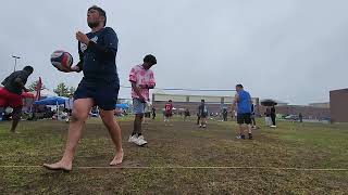
{"type": "Polygon", "coordinates": [[[89,110],[94,105],[92,99],[78,99],[74,101],[72,121],[69,126],[67,141],[63,157],[55,164],[44,164],[51,170],[71,170],[78,140],[82,136],[83,126],[88,118],[89,110]]]}

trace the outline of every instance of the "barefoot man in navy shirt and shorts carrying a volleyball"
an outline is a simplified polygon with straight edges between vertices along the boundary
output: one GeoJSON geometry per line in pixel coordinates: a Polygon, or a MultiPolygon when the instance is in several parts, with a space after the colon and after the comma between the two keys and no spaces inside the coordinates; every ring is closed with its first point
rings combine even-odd
{"type": "Polygon", "coordinates": [[[110,166],[123,160],[121,128],[114,120],[114,106],[117,101],[120,80],[115,57],[119,39],[114,30],[105,27],[107,15],[99,6],[87,12],[87,23],[91,31],[87,35],[77,31],[79,63],[69,70],[80,72],[84,77],[74,93],[72,121],[69,127],[67,142],[63,157],[55,164],[44,164],[50,170],[72,170],[76,145],[92,106],[98,105],[100,116],[115,145],[115,157],[110,166]]]}

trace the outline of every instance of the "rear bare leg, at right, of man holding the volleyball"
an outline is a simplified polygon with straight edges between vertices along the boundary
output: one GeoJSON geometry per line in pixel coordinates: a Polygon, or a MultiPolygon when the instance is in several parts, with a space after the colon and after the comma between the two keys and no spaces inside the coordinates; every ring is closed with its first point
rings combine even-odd
{"type": "Polygon", "coordinates": [[[117,121],[115,121],[113,113],[114,110],[100,109],[102,122],[108,128],[112,142],[115,145],[115,157],[110,162],[111,166],[122,164],[123,160],[121,128],[117,121]]]}

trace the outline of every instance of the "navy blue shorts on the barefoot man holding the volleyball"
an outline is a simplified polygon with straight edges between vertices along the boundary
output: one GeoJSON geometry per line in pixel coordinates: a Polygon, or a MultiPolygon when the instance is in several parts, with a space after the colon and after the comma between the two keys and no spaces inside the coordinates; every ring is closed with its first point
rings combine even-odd
{"type": "Polygon", "coordinates": [[[117,103],[120,84],[95,83],[82,80],[74,93],[74,100],[90,98],[103,110],[113,110],[117,103]]]}

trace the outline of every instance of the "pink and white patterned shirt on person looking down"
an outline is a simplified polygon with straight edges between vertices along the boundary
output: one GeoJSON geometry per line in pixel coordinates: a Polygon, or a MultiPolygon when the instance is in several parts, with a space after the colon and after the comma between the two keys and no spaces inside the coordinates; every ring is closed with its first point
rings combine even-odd
{"type": "MultiPolygon", "coordinates": [[[[130,69],[129,81],[135,82],[139,88],[140,94],[149,100],[149,89],[142,89],[140,86],[148,86],[153,88],[156,86],[153,72],[151,69],[145,69],[141,65],[136,65],[130,69]]],[[[132,89],[132,98],[139,99],[137,93],[132,89]]]]}

